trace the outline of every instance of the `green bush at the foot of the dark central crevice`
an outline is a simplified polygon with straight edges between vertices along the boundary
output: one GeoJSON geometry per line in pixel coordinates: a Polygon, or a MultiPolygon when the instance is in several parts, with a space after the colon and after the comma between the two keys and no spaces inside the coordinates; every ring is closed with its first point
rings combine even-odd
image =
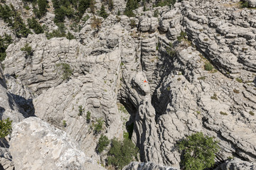
{"type": "Polygon", "coordinates": [[[107,164],[122,169],[137,158],[139,149],[132,143],[132,140],[124,138],[124,141],[112,140],[111,148],[108,152],[107,164]]]}

